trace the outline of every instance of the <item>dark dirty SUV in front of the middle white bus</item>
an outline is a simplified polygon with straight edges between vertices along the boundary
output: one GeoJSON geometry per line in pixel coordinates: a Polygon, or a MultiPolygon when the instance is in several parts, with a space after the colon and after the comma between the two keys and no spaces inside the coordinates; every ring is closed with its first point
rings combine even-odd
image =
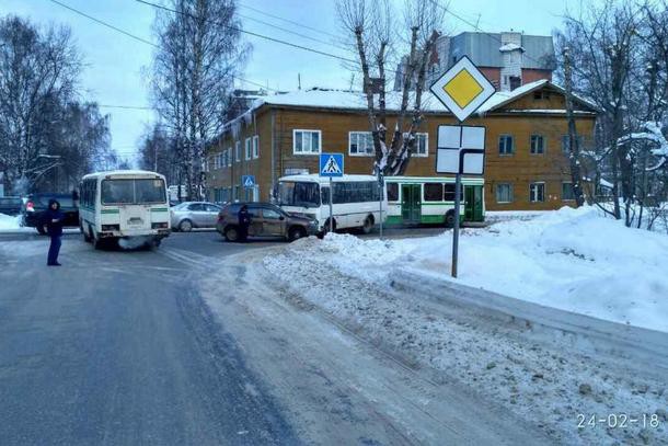
{"type": "Polygon", "coordinates": [[[318,220],[286,213],[270,203],[233,203],[218,215],[216,229],[227,241],[239,240],[239,209],[249,207],[251,226],[249,237],[281,237],[289,241],[318,233],[318,220]]]}

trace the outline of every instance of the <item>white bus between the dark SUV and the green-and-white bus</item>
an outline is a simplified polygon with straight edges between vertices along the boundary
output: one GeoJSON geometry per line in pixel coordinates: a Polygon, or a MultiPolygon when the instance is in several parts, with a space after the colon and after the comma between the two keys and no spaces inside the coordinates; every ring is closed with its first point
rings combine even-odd
{"type": "MultiPolygon", "coordinates": [[[[332,180],[334,229],[360,228],[368,233],[383,221],[388,202],[372,175],[344,175],[332,180]],[[382,194],[382,202],[380,199],[382,194]]],[[[278,180],[275,201],[285,211],[318,220],[319,232],[330,230],[330,179],[315,174],[289,175],[278,180]]]]}

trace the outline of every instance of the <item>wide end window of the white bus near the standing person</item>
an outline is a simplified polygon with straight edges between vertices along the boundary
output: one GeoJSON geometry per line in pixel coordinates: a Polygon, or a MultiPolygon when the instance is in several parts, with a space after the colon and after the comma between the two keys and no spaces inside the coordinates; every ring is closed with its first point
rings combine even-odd
{"type": "Polygon", "coordinates": [[[124,179],[102,182],[103,204],[157,204],[165,203],[166,193],[162,179],[124,179]]]}

